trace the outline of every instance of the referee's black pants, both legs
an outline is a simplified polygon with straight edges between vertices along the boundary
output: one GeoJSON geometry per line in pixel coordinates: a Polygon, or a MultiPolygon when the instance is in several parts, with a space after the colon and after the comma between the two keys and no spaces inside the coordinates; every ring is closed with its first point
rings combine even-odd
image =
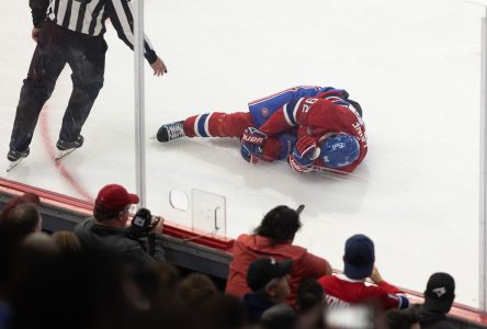
{"type": "Polygon", "coordinates": [[[45,22],[21,89],[10,148],[24,151],[31,144],[44,103],[66,64],[71,68],[72,92],[63,117],[59,139],[73,141],[103,87],[106,43],[45,22]]]}

